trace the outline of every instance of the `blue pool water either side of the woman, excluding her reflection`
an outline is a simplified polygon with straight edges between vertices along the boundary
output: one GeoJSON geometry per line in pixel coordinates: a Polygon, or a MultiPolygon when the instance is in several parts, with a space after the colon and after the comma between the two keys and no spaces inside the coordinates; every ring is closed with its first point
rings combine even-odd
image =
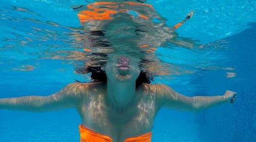
{"type": "MultiPolygon", "coordinates": [[[[167,20],[168,26],[195,10],[195,15],[176,33],[199,45],[192,49],[157,48],[158,58],[175,65],[179,71],[167,79],[158,76],[153,83],[165,83],[187,96],[222,95],[226,90],[238,93],[234,104],[198,113],[161,109],[152,141],[256,141],[256,2],[150,0],[148,3],[167,20]]],[[[67,27],[81,26],[77,12],[71,8],[81,4],[88,3],[2,0],[0,98],[47,96],[74,79],[88,80],[74,73],[70,62],[76,59],[46,58],[55,49],[79,50],[76,47],[79,44],[69,37],[74,36],[74,31],[67,27]]],[[[81,120],[75,109],[44,113],[1,110],[0,120],[2,142],[79,141],[81,120]]]]}

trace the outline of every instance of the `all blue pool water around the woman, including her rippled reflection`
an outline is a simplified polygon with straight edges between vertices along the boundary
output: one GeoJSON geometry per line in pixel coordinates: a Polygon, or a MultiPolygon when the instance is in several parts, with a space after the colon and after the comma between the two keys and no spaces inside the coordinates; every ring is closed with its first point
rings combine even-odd
{"type": "MultiPolygon", "coordinates": [[[[197,114],[161,110],[153,141],[256,140],[255,1],[97,2],[3,0],[0,97],[47,96],[75,80],[91,81],[79,70],[121,54],[138,59],[153,83],[187,96],[238,92],[236,103],[197,114]]],[[[75,110],[1,111],[0,141],[79,139],[75,110]]]]}

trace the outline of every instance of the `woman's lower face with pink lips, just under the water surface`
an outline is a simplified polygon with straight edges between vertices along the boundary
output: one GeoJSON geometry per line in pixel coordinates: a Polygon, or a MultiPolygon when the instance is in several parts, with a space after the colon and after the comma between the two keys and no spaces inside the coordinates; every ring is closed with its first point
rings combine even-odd
{"type": "Polygon", "coordinates": [[[117,83],[133,82],[140,74],[139,60],[130,56],[113,55],[103,70],[111,81],[117,83]]]}

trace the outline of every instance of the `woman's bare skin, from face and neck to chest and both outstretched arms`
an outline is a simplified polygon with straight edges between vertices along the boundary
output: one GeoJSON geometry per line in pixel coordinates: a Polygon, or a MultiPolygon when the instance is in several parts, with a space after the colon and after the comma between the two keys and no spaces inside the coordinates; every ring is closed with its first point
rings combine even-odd
{"type": "Polygon", "coordinates": [[[120,55],[111,59],[102,67],[107,82],[70,83],[46,97],[0,99],[0,108],[35,112],[76,108],[84,126],[116,142],[150,132],[161,107],[196,112],[236,99],[231,91],[223,96],[187,97],[164,84],[141,84],[136,89],[139,61],[120,55]]]}

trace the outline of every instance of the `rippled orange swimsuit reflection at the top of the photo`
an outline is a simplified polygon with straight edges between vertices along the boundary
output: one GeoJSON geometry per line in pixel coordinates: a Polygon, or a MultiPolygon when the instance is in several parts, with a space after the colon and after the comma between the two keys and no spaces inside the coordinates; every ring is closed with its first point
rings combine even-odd
{"type": "MultiPolygon", "coordinates": [[[[80,11],[77,16],[81,23],[93,20],[111,20],[113,19],[113,17],[111,17],[112,14],[116,14],[119,12],[129,14],[127,13],[129,9],[122,8],[125,7],[125,5],[146,6],[154,9],[152,5],[136,2],[97,2],[87,5],[87,8],[89,10],[80,11]],[[99,5],[104,5],[104,8],[97,7],[99,5]]],[[[138,17],[148,19],[147,16],[139,13],[138,17]]]]}

